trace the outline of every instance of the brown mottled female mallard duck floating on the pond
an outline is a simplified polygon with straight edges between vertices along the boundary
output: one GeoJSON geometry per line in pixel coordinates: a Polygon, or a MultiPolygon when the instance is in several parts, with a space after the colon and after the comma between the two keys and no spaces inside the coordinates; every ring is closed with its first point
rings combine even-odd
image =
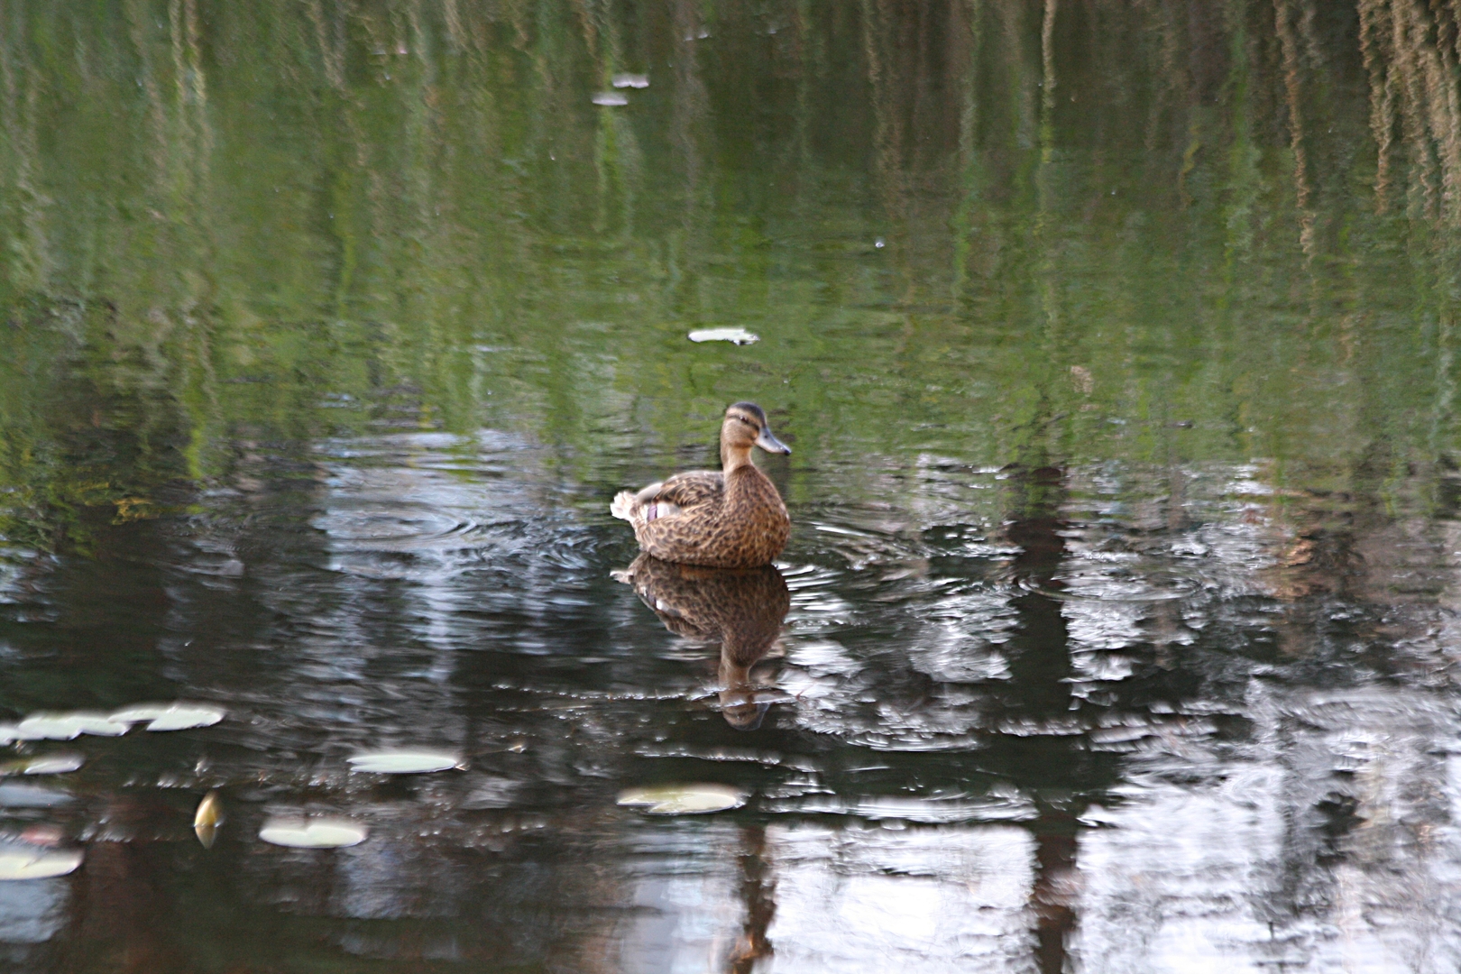
{"type": "Polygon", "coordinates": [[[640,549],[662,561],[768,565],[786,546],[792,521],[776,485],[751,463],[751,447],[790,453],[760,406],[735,403],[720,423],[720,470],[688,470],[637,494],[621,491],[609,513],[633,524],[640,549]]]}

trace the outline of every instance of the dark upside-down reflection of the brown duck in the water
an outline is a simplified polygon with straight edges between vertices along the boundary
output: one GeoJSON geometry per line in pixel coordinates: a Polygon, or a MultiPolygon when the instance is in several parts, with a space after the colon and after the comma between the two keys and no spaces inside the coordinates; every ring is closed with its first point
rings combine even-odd
{"type": "Polygon", "coordinates": [[[773,565],[701,568],[640,555],[614,577],[634,586],[675,635],[720,644],[720,713],[738,730],[760,727],[771,702],[764,689],[757,692],[751,667],[776,644],[792,607],[782,572],[773,565]]]}

